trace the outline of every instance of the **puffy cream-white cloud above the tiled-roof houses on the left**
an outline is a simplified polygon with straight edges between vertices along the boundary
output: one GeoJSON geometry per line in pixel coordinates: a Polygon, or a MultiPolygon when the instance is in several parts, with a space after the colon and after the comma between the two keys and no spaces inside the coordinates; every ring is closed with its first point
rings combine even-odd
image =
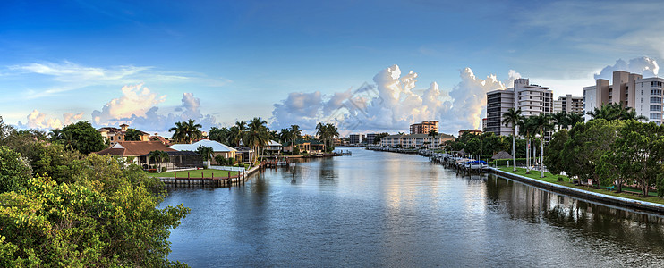
{"type": "Polygon", "coordinates": [[[95,126],[117,126],[125,123],[149,133],[166,133],[176,121],[190,119],[200,123],[203,126],[202,130],[217,126],[214,116],[200,112],[200,98],[195,97],[193,93],[183,93],[182,105],[175,107],[177,113],[159,113],[157,105],[163,103],[166,96],[151,92],[143,84],[124,86],[122,93],[123,96],[106,103],[101,111],[92,112],[92,122],[95,126]]]}

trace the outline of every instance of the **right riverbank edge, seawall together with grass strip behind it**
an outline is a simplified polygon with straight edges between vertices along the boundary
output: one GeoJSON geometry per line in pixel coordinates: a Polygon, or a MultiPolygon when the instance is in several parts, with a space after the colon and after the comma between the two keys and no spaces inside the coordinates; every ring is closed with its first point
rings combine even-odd
{"type": "MultiPolygon", "coordinates": [[[[508,169],[511,168],[508,167],[508,169]]],[[[634,209],[636,211],[647,211],[651,213],[664,214],[664,204],[645,201],[643,199],[646,198],[643,197],[618,197],[617,195],[621,194],[606,189],[591,190],[588,188],[575,188],[575,187],[565,186],[557,183],[558,182],[557,179],[555,181],[546,181],[546,180],[553,180],[551,178],[552,175],[549,177],[545,177],[544,180],[540,180],[540,179],[529,178],[524,175],[515,174],[514,172],[511,171],[507,172],[504,170],[500,170],[498,168],[489,168],[489,171],[512,180],[521,181],[535,187],[548,189],[554,192],[565,194],[570,197],[580,197],[583,199],[600,202],[608,205],[622,206],[634,209]],[[600,193],[599,191],[605,191],[607,193],[600,193]]],[[[535,173],[537,171],[532,171],[532,172],[535,173]]],[[[539,174],[539,172],[537,173],[539,174]]],[[[627,194],[622,194],[622,195],[627,195],[627,194]]],[[[647,197],[647,198],[648,199],[658,198],[659,200],[657,201],[664,203],[664,200],[662,200],[659,197],[647,197]]]]}

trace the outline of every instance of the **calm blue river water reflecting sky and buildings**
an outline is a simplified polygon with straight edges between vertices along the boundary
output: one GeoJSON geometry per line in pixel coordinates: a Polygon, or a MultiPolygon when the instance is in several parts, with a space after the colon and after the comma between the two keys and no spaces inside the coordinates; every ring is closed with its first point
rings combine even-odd
{"type": "MultiPolygon", "coordinates": [[[[347,149],[347,148],[345,148],[347,149]]],[[[172,260],[218,266],[662,266],[664,218],[418,155],[353,150],[236,188],[175,188],[172,260]]]]}

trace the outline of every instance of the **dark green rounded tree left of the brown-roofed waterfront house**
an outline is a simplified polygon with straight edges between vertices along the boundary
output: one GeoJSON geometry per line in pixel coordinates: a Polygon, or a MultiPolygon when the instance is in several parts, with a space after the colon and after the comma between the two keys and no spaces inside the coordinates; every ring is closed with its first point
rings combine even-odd
{"type": "Polygon", "coordinates": [[[71,147],[88,155],[106,148],[104,138],[87,121],[78,121],[63,128],[63,134],[71,140],[71,147]]]}

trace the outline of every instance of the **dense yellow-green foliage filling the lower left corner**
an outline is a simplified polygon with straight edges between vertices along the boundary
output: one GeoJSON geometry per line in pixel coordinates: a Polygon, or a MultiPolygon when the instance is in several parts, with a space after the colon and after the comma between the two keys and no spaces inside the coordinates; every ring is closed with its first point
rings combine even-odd
{"type": "Polygon", "coordinates": [[[35,131],[11,130],[1,141],[2,266],[182,265],[166,259],[166,239],[189,210],[157,209],[163,184],[140,167],[81,155],[35,131]]]}

